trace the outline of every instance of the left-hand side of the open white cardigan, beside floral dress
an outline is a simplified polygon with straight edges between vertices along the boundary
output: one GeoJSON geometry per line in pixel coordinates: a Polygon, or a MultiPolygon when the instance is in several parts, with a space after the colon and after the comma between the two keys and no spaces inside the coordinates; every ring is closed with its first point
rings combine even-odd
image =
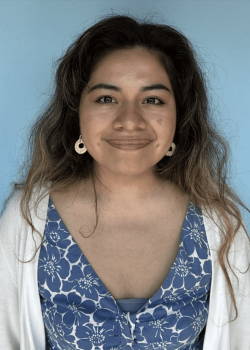
{"type": "MultiPolygon", "coordinates": [[[[30,210],[35,228],[43,234],[48,198],[34,212],[34,189],[30,210]]],[[[0,350],[45,350],[45,330],[38,292],[37,267],[41,237],[25,222],[20,211],[21,193],[10,201],[0,219],[0,350]],[[29,261],[22,263],[20,261],[29,261]]]]}

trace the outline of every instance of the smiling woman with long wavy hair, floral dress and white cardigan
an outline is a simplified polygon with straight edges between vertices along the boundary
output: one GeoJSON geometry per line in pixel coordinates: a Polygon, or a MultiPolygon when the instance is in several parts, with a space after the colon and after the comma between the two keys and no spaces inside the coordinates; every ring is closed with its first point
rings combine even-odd
{"type": "Polygon", "coordinates": [[[172,27],[108,16],[69,47],[0,222],[1,349],[250,348],[247,208],[209,111],[172,27]]]}

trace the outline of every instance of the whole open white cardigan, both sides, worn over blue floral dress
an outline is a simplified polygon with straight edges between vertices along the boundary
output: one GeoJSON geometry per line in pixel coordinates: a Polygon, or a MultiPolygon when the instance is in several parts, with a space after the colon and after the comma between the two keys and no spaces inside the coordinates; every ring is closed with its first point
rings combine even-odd
{"type": "MultiPolygon", "coordinates": [[[[38,216],[32,208],[33,224],[43,235],[47,216],[49,195],[40,202],[38,216]]],[[[236,295],[238,318],[227,289],[226,279],[217,261],[216,250],[220,245],[218,227],[205,214],[203,220],[212,256],[212,283],[210,304],[203,350],[250,350],[250,242],[241,227],[230,250],[229,259],[234,266],[237,280],[228,269],[236,295]]],[[[218,222],[216,213],[213,218],[218,222]]],[[[34,247],[41,238],[25,223],[20,214],[20,193],[9,203],[0,220],[0,350],[45,350],[45,329],[38,293],[37,268],[39,251],[34,260],[34,247]]]]}

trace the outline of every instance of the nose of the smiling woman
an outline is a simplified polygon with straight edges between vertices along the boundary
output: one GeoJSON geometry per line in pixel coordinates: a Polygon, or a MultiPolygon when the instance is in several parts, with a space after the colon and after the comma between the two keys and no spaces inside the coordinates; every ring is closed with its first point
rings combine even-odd
{"type": "Polygon", "coordinates": [[[143,112],[135,103],[124,103],[120,107],[118,115],[113,122],[113,127],[118,130],[137,131],[145,130],[147,127],[143,112]]]}

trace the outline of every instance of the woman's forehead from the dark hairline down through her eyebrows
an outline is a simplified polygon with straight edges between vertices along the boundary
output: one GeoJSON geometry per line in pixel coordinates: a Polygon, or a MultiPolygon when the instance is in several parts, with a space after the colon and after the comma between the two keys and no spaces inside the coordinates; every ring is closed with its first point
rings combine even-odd
{"type": "Polygon", "coordinates": [[[156,54],[141,47],[116,50],[101,59],[82,92],[82,99],[91,98],[99,89],[126,94],[161,90],[174,97],[168,74],[156,54]]]}

